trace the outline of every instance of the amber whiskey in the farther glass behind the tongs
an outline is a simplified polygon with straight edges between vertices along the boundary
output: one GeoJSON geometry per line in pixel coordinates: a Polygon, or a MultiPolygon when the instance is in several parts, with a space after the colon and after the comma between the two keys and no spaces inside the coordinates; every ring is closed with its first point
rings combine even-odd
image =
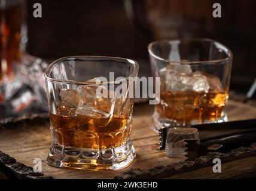
{"type": "Polygon", "coordinates": [[[226,91],[210,90],[161,92],[156,112],[160,118],[171,119],[178,124],[203,123],[221,118],[228,94],[226,91]]]}

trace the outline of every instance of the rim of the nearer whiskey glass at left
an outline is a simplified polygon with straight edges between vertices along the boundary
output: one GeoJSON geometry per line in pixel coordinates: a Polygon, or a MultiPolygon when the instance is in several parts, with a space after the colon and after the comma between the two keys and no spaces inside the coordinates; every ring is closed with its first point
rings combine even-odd
{"type": "MultiPolygon", "coordinates": [[[[86,60],[85,60],[86,61],[86,60]]],[[[54,83],[64,83],[64,84],[81,84],[81,85],[102,85],[102,84],[116,84],[117,82],[123,82],[123,81],[127,81],[129,79],[129,77],[135,77],[138,75],[138,71],[139,71],[139,64],[137,61],[135,60],[132,60],[132,59],[128,59],[128,58],[121,58],[121,57],[109,57],[109,56],[68,56],[68,57],[62,57],[62,58],[59,58],[57,60],[54,60],[48,67],[47,69],[45,70],[44,72],[44,77],[45,79],[47,79],[47,81],[51,81],[51,82],[54,82],[54,83]],[[117,81],[107,81],[107,82],[101,82],[101,84],[95,84],[95,82],[88,82],[88,81],[72,81],[72,80],[65,80],[65,79],[55,79],[55,78],[51,78],[49,75],[50,75],[50,72],[51,72],[51,69],[53,68],[53,66],[55,64],[58,64],[60,63],[60,61],[65,61],[65,60],[69,60],[69,59],[76,59],[76,58],[84,58],[84,59],[93,59],[93,58],[96,58],[96,59],[105,59],[105,60],[115,60],[115,61],[123,61],[123,62],[128,62],[130,64],[132,64],[133,66],[133,71],[132,73],[127,76],[127,77],[124,77],[124,79],[120,79],[120,80],[117,80],[117,81]]]]}

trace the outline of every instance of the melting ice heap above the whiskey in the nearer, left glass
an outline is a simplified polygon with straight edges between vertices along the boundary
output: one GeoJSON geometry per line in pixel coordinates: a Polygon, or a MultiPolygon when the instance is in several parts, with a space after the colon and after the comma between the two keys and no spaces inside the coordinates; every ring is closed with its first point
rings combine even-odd
{"type": "Polygon", "coordinates": [[[99,78],[93,78],[89,85],[79,85],[77,90],[60,91],[62,104],[59,112],[65,115],[84,115],[95,118],[109,118],[112,115],[123,115],[132,108],[132,99],[115,97],[115,92],[100,85],[99,78]],[[100,91],[100,94],[99,94],[100,91]],[[106,94],[103,94],[103,91],[106,94]]]}

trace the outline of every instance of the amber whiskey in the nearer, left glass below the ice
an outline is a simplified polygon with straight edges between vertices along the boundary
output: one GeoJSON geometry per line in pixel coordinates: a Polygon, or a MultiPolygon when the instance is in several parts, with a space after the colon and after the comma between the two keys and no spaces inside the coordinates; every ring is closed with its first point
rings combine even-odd
{"type": "Polygon", "coordinates": [[[130,135],[129,115],[111,118],[50,114],[56,141],[65,147],[109,149],[125,143],[130,135]]]}

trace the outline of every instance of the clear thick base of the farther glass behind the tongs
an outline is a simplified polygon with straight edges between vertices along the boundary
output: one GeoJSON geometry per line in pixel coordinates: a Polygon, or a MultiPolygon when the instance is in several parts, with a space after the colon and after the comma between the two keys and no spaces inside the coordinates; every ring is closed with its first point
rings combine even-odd
{"type": "Polygon", "coordinates": [[[153,114],[153,123],[154,123],[153,128],[154,128],[154,131],[156,131],[157,133],[158,133],[158,130],[166,127],[181,127],[181,126],[185,127],[187,125],[212,124],[212,123],[221,123],[221,122],[227,122],[227,121],[228,121],[227,113],[225,112],[223,112],[223,114],[221,115],[221,118],[215,121],[205,120],[203,121],[203,123],[200,123],[198,120],[193,120],[190,122],[190,124],[179,124],[170,119],[161,119],[159,117],[159,113],[157,113],[156,111],[153,114]]]}

